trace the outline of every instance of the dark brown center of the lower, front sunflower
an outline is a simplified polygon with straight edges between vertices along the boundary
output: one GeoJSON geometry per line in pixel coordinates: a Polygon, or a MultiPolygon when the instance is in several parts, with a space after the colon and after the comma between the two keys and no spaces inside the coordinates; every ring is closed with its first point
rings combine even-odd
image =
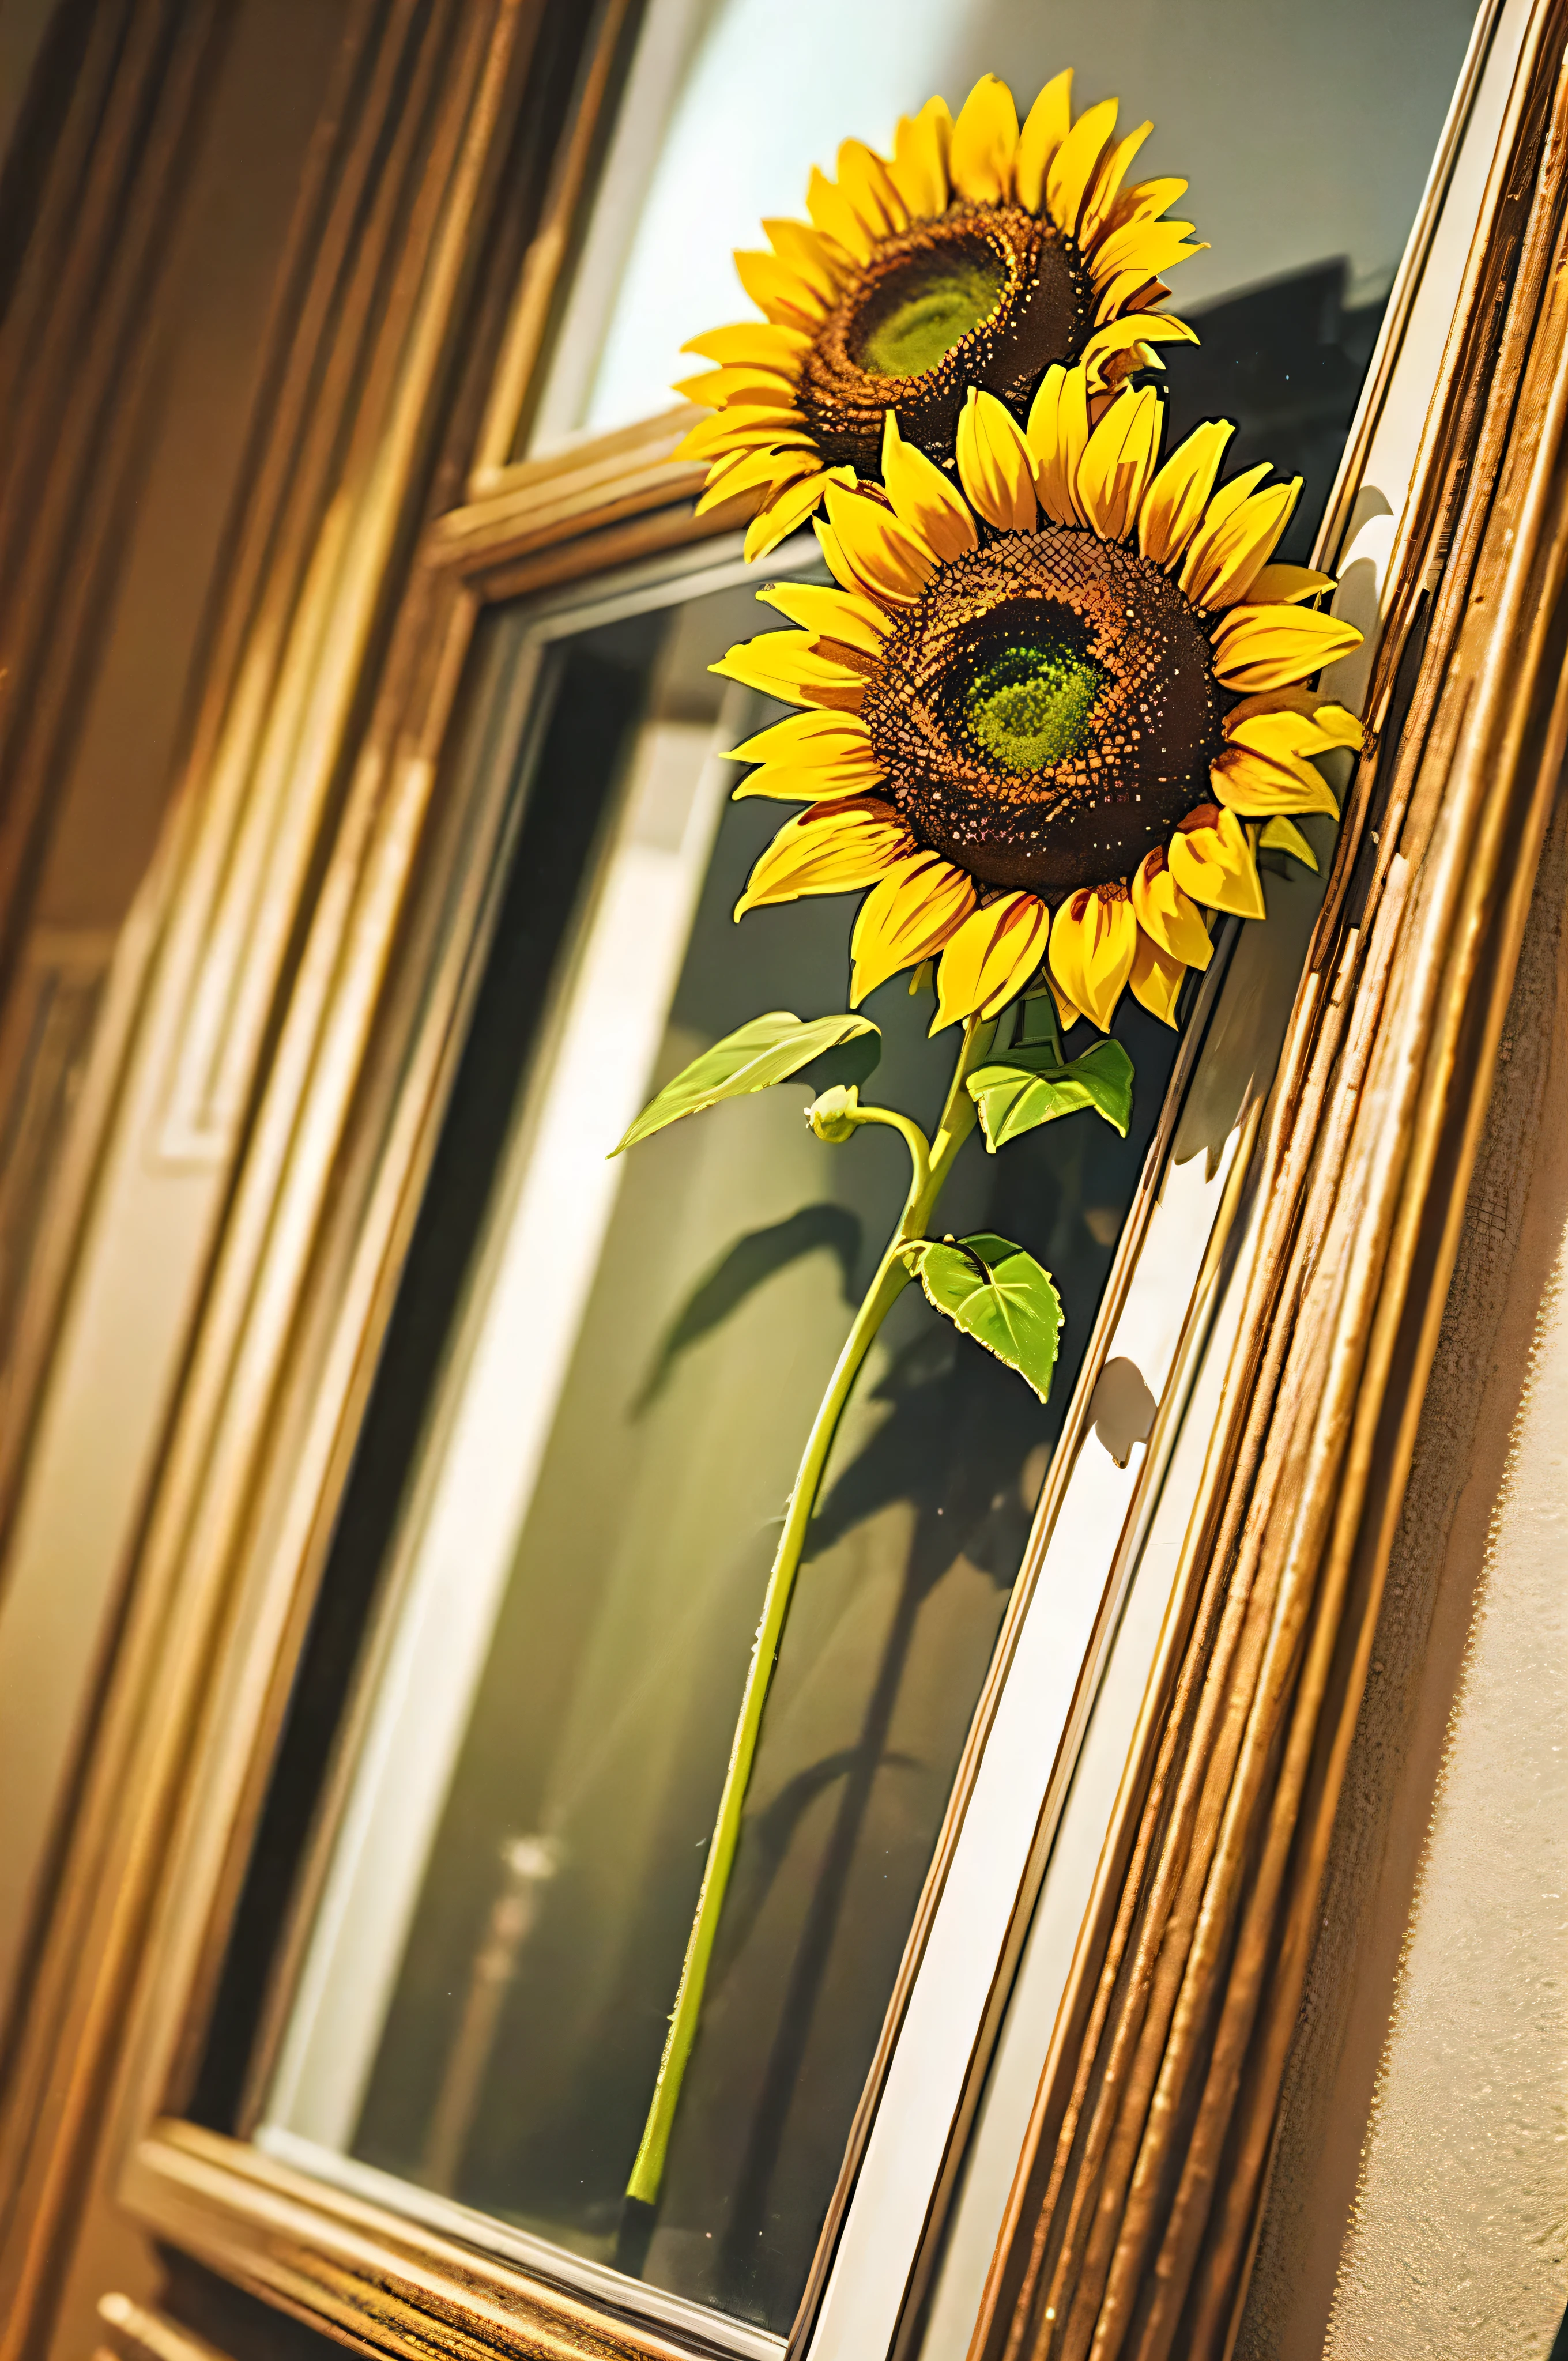
{"type": "Polygon", "coordinates": [[[1051,897],[1164,843],[1209,793],[1219,713],[1204,626],[1169,574],[1060,524],[940,567],[862,708],[919,841],[1051,897]]]}

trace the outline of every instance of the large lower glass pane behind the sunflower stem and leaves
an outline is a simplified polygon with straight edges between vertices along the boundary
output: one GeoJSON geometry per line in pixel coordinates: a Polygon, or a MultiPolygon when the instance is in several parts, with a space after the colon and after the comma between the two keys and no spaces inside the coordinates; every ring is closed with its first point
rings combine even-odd
{"type": "MultiPolygon", "coordinates": [[[[779,1516],[907,1180],[893,1133],[819,1145],[805,1081],[605,1155],[741,1018],[845,1001],[843,900],[732,923],[782,815],[725,803],[713,753],[777,708],[706,666],[756,621],[746,583],[553,640],[536,753],[508,715],[538,623],[486,626],[468,767],[517,772],[527,810],[451,1121],[470,1074],[515,1112],[262,2137],[784,2333],[1176,1036],[1117,1018],[1126,1140],[975,1143],[949,1183],[956,1235],[1072,1273],[1051,1405],[904,1294],[786,1627],[661,2208],[628,2229],[779,1516]]],[[[904,977],[869,1013],[878,1096],[933,1124],[954,1034],[904,977]]],[[[439,1188],[458,1221],[465,1159],[439,1188]]],[[[437,1195],[406,1289],[449,1254],[437,1195]]]]}

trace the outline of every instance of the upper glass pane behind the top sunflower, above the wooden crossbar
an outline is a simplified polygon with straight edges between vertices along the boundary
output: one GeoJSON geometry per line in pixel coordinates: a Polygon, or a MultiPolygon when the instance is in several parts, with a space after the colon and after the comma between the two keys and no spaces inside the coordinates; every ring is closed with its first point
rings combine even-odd
{"type": "Polygon", "coordinates": [[[1136,175],[1185,179],[1176,212],[1211,241],[1171,276],[1204,340],[1167,352],[1171,427],[1266,423],[1259,456],[1306,472],[1320,510],[1474,19],[1476,0],[1060,0],[1048,19],[1034,0],[649,0],[531,449],[668,408],[704,366],[682,342],[756,316],[730,250],[801,220],[841,139],[890,153],[930,92],[956,109],[999,73],[1023,111],[1072,66],[1079,106],[1155,118],[1136,175]]]}

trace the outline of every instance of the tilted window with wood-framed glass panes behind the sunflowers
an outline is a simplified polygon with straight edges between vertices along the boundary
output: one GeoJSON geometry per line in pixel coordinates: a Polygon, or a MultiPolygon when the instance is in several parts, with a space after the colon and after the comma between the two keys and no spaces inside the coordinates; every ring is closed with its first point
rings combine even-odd
{"type": "MultiPolygon", "coordinates": [[[[1174,1029],[1122,1003],[1126,1138],[1077,1119],[966,1150],[954,1230],[994,1223],[1063,1287],[1051,1400],[900,1301],[786,1627],[668,2179],[628,2205],[772,1537],[902,1188],[895,1140],[812,1138],[808,1079],[609,1157],[749,1013],[845,1003],[845,904],[732,923],[777,812],[730,800],[727,751],[770,708],[711,666],[763,628],[758,576],[734,517],[692,517],[664,387],[685,335],[739,309],[727,246],[798,208],[812,156],[886,142],[930,87],[994,68],[1030,97],[1072,59],[1082,97],[1157,116],[1148,168],[1190,177],[1214,238],[1176,293],[1202,342],[1167,354],[1169,432],[1230,416],[1235,465],[1306,477],[1282,555],[1332,562],[1367,626],[1346,701],[1398,621],[1407,666],[1374,678],[1398,746],[1440,486],[1474,449],[1443,340],[1502,316],[1488,288],[1511,281],[1466,257],[1478,224],[1488,267],[1523,250],[1500,208],[1528,201],[1544,120],[1540,12],[1474,14],[1074,7],[1046,54],[1011,5],[605,9],[569,139],[593,172],[557,187],[520,297],[548,314],[538,368],[425,531],[404,704],[375,722],[392,756],[333,822],[333,859],[371,848],[364,900],[295,911],[300,973],[333,975],[333,1055],[279,1058],[269,1088],[298,1098],[257,1140],[309,1140],[340,1093],[314,1291],[276,1334],[224,1310],[267,1306],[305,1230],[293,1199],[274,1218],[257,1145],[260,1211],[241,1190],[224,1244],[255,1261],[220,1268],[203,1315],[257,1355],[267,1329],[274,1407],[224,1495],[208,1653],[182,1641],[215,1672],[165,1875],[201,1936],[128,2035],[146,2104],[120,2186],[267,2300],[349,2337],[390,2288],[409,2340],[472,2311],[496,2349],[524,2319],[571,2349],[758,2361],[956,2361],[1001,2302],[1041,2064],[1082,2033],[1074,1950],[1131,1877],[1108,1830],[1230,1355],[1268,1317],[1280,1053],[1320,914],[1351,895],[1358,930],[1386,878],[1367,798],[1391,774],[1341,767],[1353,878],[1308,822],[1318,871],[1266,859],[1268,923],[1219,928],[1174,1029]],[[1509,97],[1521,57],[1535,113],[1509,97]],[[1500,142],[1528,149],[1514,194],[1488,182],[1500,142]],[[555,290],[545,246],[569,257],[555,290]],[[1448,439],[1422,442],[1429,418],[1448,439]],[[409,800],[378,803],[380,777],[409,800]]],[[[798,534],[767,571],[817,567],[798,534]]],[[[869,1015],[888,1096],[928,1114],[930,1001],[897,977],[869,1015]]],[[[205,1414],[194,1386],[187,1469],[205,1414]]]]}

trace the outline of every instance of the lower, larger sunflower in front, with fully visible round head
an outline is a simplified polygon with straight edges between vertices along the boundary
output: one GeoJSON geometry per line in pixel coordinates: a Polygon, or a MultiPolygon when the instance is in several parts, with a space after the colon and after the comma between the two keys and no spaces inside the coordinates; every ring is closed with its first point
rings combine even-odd
{"type": "Polygon", "coordinates": [[[1306,687],[1360,633],[1273,562],[1301,479],[1216,484],[1230,434],[1159,465],[1152,387],[1091,423],[1086,366],[1053,366],[1025,430],[968,392],[954,484],[888,411],[883,482],[829,484],[817,522],[838,588],[767,586],[798,628],[713,666],[805,708],[734,748],[737,796],[810,805],[734,916],[869,888],[852,1001],[935,959],[933,1029],[1041,970],[1065,1025],[1108,1029],[1124,987],[1174,1025],[1207,914],[1266,914],[1259,841],[1313,862],[1299,817],[1339,817],[1313,758],[1365,741],[1306,687]]]}

